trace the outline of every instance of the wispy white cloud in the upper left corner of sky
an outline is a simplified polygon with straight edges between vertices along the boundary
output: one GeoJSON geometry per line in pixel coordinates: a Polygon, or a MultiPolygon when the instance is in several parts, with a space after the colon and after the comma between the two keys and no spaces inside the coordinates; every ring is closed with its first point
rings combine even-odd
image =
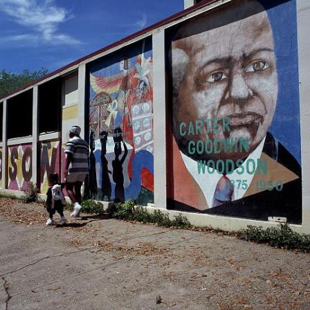
{"type": "MultiPolygon", "coordinates": [[[[81,43],[69,35],[58,33],[60,24],[71,16],[66,9],[55,6],[54,0],[0,0],[0,10],[12,21],[29,28],[37,35],[37,40],[53,45],[81,43]]],[[[27,39],[27,35],[24,36],[27,39]]]]}

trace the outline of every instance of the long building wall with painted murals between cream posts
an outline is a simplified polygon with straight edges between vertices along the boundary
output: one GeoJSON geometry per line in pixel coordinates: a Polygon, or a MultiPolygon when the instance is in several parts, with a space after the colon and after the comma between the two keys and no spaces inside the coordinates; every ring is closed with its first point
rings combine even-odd
{"type": "MultiPolygon", "coordinates": [[[[63,78],[62,132],[38,147],[37,183],[59,169],[58,140],[64,164],[79,124],[95,199],[133,198],[225,230],[287,220],[310,233],[309,15],[306,0],[210,1],[82,60],[63,78]]],[[[23,156],[6,148],[4,176],[22,165],[11,148],[23,156]]]]}

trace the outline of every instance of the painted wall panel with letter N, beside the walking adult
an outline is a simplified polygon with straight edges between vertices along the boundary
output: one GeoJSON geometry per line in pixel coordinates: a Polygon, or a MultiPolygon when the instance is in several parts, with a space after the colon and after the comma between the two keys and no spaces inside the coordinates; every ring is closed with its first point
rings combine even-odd
{"type": "Polygon", "coordinates": [[[60,175],[60,141],[40,142],[40,192],[48,190],[48,174],[60,175]]]}

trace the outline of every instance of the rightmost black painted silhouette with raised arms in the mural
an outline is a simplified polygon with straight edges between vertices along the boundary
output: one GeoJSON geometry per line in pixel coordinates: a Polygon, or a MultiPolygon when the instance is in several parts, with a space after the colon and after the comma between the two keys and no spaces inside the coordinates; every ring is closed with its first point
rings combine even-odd
{"type": "Polygon", "coordinates": [[[114,202],[125,202],[125,190],[124,190],[124,174],[122,173],[122,164],[124,163],[128,154],[126,143],[122,140],[122,130],[120,128],[114,129],[114,154],[115,159],[112,161],[113,167],[113,181],[115,183],[115,198],[114,202]],[[118,157],[122,154],[121,143],[124,147],[124,155],[121,159],[118,157]]]}

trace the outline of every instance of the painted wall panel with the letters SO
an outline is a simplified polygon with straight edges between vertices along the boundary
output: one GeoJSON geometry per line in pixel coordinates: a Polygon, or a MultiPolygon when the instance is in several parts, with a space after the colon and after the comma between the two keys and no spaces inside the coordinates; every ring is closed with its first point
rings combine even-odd
{"type": "Polygon", "coordinates": [[[32,143],[8,147],[8,189],[26,190],[33,176],[32,143]]]}

